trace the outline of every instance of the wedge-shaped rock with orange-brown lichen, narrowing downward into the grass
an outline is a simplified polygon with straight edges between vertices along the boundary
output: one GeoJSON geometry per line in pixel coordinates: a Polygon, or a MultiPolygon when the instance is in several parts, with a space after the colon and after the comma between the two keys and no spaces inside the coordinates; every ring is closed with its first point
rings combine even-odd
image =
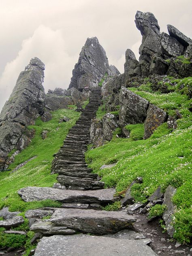
{"type": "Polygon", "coordinates": [[[166,121],[166,113],[156,107],[155,105],[149,103],[149,108],[147,110],[147,117],[145,119],[145,132],[144,132],[144,139],[148,139],[151,134],[153,134],[154,130],[158,128],[161,124],[166,121]]]}

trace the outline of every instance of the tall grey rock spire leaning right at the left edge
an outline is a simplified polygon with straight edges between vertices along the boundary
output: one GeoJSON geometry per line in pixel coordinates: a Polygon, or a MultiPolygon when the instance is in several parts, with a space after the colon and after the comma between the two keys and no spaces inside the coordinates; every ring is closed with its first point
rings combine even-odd
{"type": "Polygon", "coordinates": [[[21,150],[31,139],[24,134],[26,126],[34,124],[44,113],[43,88],[45,65],[38,58],[30,60],[17,79],[9,100],[0,114],[0,168],[4,168],[7,154],[15,147],[21,150]]]}

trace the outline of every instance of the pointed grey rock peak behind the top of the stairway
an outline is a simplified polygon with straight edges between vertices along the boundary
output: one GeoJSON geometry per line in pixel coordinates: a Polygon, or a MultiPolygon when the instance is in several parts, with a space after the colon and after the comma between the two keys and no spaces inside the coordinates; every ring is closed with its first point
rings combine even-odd
{"type": "Polygon", "coordinates": [[[73,69],[73,77],[69,88],[75,87],[82,91],[84,87],[97,87],[98,82],[108,73],[110,76],[118,75],[114,66],[109,66],[105,50],[96,37],[87,38],[81,49],[79,60],[73,69]]]}

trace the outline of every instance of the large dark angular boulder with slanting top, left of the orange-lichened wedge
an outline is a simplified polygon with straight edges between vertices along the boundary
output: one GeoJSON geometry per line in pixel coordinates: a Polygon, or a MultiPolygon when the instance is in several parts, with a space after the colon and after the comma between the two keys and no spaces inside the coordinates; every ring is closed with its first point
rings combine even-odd
{"type": "Polygon", "coordinates": [[[149,106],[147,100],[122,87],[119,94],[119,102],[119,124],[121,126],[143,123],[145,121],[149,106]]]}

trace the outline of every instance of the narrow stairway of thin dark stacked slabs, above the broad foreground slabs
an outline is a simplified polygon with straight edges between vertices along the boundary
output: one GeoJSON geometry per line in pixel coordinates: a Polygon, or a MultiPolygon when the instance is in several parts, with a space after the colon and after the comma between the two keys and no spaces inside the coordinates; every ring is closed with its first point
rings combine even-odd
{"type": "Polygon", "coordinates": [[[104,187],[104,183],[97,180],[98,175],[92,173],[85,163],[85,151],[90,141],[90,125],[96,117],[96,111],[101,104],[100,88],[93,90],[90,102],[85,107],[81,117],[73,126],[64,145],[55,155],[52,172],[59,173],[54,188],[70,190],[94,190],[104,187]]]}

